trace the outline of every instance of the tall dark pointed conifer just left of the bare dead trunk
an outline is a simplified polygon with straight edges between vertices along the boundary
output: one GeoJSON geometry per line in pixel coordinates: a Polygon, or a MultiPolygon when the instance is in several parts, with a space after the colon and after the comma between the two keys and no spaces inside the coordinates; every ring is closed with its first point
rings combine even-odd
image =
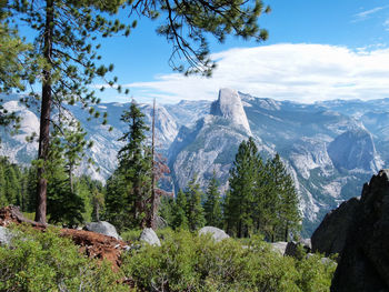
{"type": "Polygon", "coordinates": [[[107,183],[107,218],[122,228],[144,228],[150,210],[152,158],[147,145],[149,128],[144,114],[132,101],[121,121],[128,132],[119,139],[126,144],[119,150],[119,167],[107,183]],[[121,223],[120,223],[121,222],[121,223]]]}

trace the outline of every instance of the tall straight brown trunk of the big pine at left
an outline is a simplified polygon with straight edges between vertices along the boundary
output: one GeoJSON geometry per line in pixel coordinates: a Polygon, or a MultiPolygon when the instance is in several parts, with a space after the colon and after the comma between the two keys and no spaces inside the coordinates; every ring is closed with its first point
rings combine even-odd
{"type": "MultiPolygon", "coordinates": [[[[53,0],[46,1],[46,29],[44,29],[44,51],[43,57],[48,63],[51,62],[52,53],[52,31],[53,31],[53,0]]],[[[38,168],[38,188],[37,188],[37,210],[36,221],[46,223],[47,209],[47,189],[48,181],[44,178],[44,164],[48,160],[50,144],[50,114],[51,114],[51,70],[43,70],[42,81],[42,103],[39,127],[39,150],[38,159],[43,162],[38,168]]]]}

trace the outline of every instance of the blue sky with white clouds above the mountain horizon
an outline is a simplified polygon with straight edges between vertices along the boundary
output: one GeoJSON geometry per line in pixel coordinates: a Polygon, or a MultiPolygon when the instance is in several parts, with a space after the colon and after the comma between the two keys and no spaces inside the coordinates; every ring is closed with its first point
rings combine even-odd
{"type": "Polygon", "coordinates": [[[139,19],[128,39],[104,39],[101,54],[130,94],[106,90],[106,102],[215,100],[220,88],[259,98],[315,102],[389,98],[387,0],[263,0],[259,18],[269,39],[229,37],[211,43],[212,78],[183,77],[169,67],[171,44],[154,32],[158,20],[139,19]]]}

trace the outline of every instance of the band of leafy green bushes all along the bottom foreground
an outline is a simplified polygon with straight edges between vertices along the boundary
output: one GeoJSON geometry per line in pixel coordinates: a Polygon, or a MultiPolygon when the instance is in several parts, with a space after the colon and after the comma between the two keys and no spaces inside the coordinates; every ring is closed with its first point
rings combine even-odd
{"type": "MultiPolygon", "coordinates": [[[[136,291],[323,292],[336,268],[320,255],[282,256],[260,238],[216,243],[209,234],[166,229],[159,234],[162,246],[129,251],[113,273],[109,263],[81,255],[56,229],[18,226],[13,232],[11,246],[0,246],[0,292],[129,291],[120,284],[126,278],[136,291]]],[[[126,236],[134,233],[140,231],[126,236]]]]}

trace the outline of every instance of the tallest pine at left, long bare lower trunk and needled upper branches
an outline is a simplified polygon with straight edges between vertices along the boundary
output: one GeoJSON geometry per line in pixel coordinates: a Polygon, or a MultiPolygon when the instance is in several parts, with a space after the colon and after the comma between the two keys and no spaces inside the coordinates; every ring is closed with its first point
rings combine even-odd
{"type": "MultiPolygon", "coordinates": [[[[49,158],[50,129],[56,128],[51,110],[63,111],[63,103],[81,102],[92,117],[99,115],[92,103],[98,103],[94,91],[89,87],[97,77],[104,77],[113,66],[98,67],[100,59],[94,42],[98,34],[109,37],[120,31],[126,34],[130,26],[120,21],[108,21],[103,13],[117,12],[121,3],[117,1],[9,1],[10,18],[26,22],[34,32],[34,52],[42,85],[40,107],[40,132],[38,159],[38,188],[36,221],[46,222],[47,179],[46,163],[49,158]],[[93,43],[94,42],[94,43],[93,43]]],[[[37,73],[37,72],[36,72],[37,73]]],[[[113,84],[116,79],[109,81],[113,84]]],[[[118,88],[120,91],[121,89],[118,88]]]]}

